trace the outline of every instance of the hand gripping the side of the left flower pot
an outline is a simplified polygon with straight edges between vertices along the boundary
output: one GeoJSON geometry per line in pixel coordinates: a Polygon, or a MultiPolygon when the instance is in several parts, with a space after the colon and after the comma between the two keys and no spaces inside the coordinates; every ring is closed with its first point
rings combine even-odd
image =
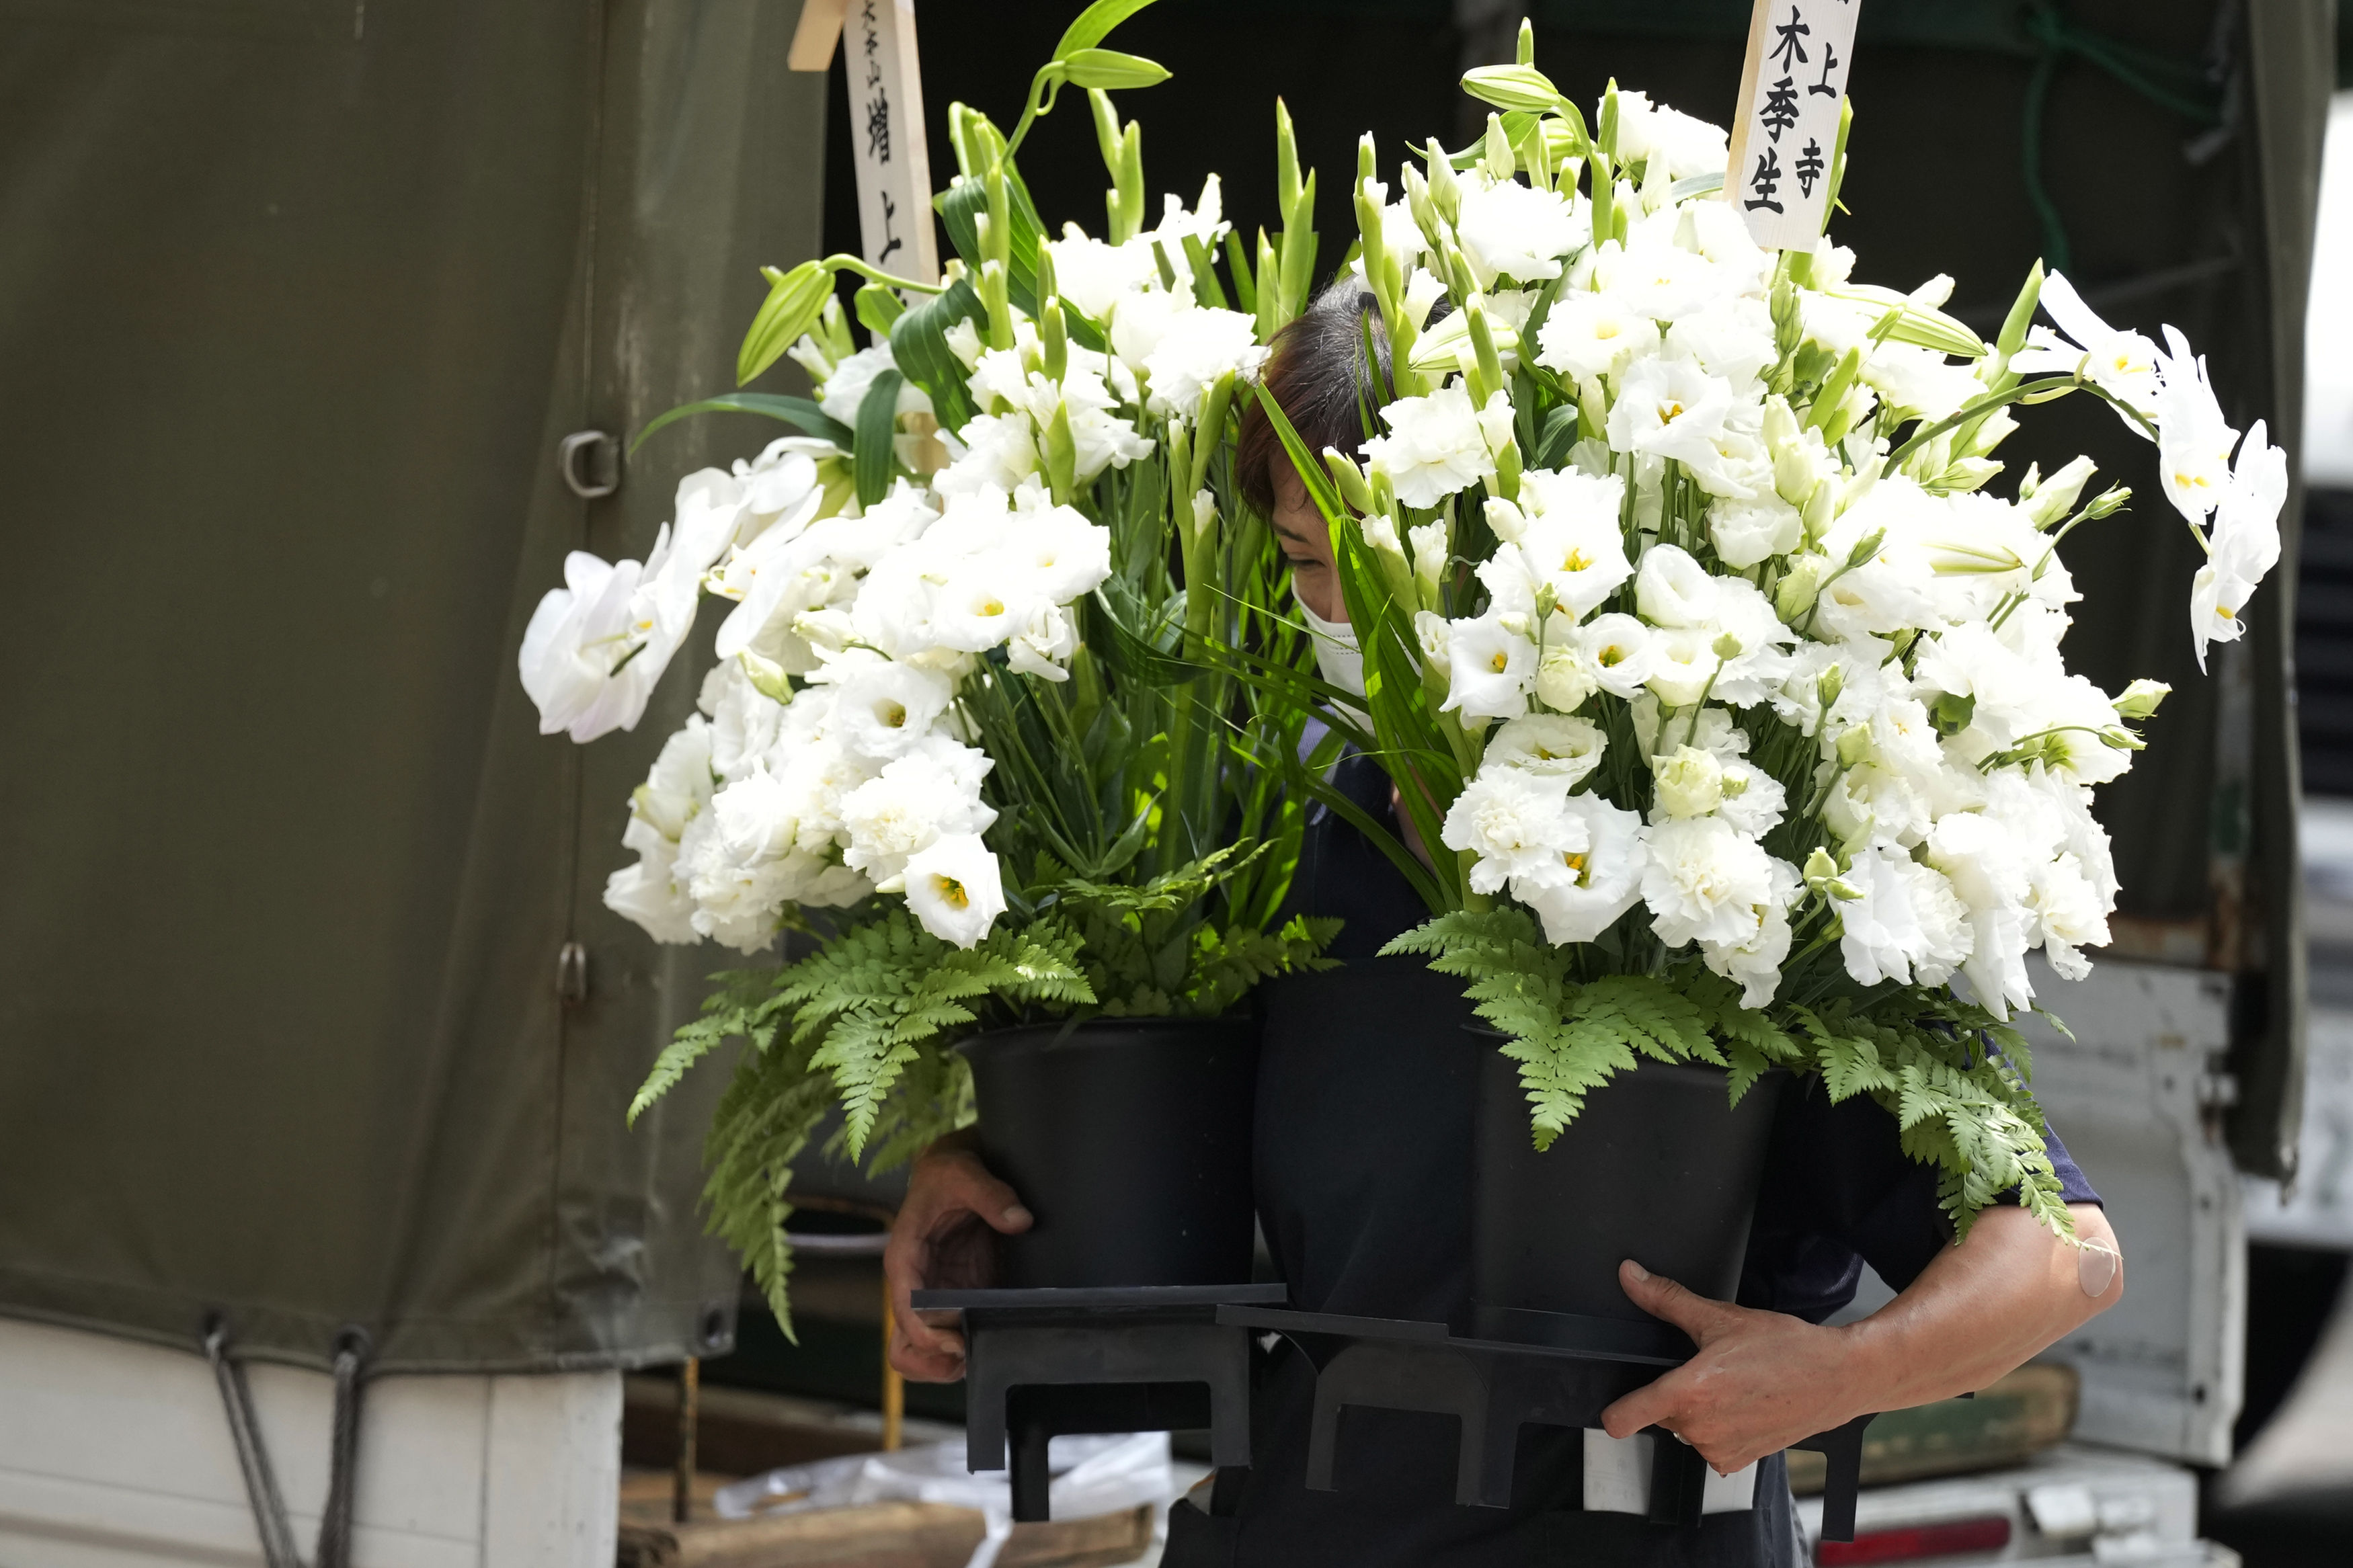
{"type": "Polygon", "coordinates": [[[922,1154],[906,1180],[906,1201],[882,1248],[889,1281],[889,1363],[915,1382],[955,1382],[965,1375],[965,1335],[922,1324],[908,1305],[913,1291],[988,1284],[991,1229],[1019,1234],[1031,1211],[1012,1187],[981,1164],[967,1133],[948,1133],[922,1154]]]}

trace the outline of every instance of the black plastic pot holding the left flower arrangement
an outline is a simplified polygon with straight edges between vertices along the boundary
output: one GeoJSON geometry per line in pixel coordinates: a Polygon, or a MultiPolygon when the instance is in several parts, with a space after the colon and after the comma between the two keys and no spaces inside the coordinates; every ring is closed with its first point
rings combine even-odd
{"type": "Polygon", "coordinates": [[[1254,1020],[1099,1018],[960,1051],[981,1159],[1035,1215],[998,1239],[1000,1286],[1249,1281],[1254,1020]]]}

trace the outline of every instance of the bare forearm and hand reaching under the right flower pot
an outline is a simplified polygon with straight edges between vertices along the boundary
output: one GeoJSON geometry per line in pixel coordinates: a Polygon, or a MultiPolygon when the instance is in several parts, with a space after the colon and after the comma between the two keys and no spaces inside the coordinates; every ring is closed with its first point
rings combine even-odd
{"type": "Polygon", "coordinates": [[[2085,1269],[2024,1208],[1988,1208],[1908,1291],[1840,1328],[1708,1300],[1628,1260],[1626,1295],[1692,1335],[1699,1354],[1609,1406],[1602,1427],[1609,1436],[1666,1427],[1732,1474],[1857,1415],[1981,1389],[2122,1300],[2108,1215],[2097,1204],[2071,1213],[2075,1234],[2106,1248],[2113,1267],[2094,1258],[2085,1269]]]}

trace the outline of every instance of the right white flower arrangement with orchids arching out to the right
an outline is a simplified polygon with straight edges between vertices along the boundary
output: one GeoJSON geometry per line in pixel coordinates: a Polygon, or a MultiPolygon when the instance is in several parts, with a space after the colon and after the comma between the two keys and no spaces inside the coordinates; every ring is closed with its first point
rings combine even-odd
{"type": "Polygon", "coordinates": [[[2207,555],[2200,665],[2278,562],[2285,456],[2181,334],[2115,331],[2059,275],[1984,343],[1948,277],[1758,249],[1722,132],[1617,89],[1588,132],[1525,40],[1466,78],[1485,139],[1400,169],[1402,219],[1362,146],[1362,461],[1285,423],[1379,672],[1360,743],[1452,851],[1393,952],[1471,980],[1539,1143],[1638,1053],[1734,1093],[1793,1065],[1887,1103],[1960,1222],[2019,1187],[2064,1229],[2007,1020],[2028,952],[2080,978],[2108,940],[2092,790],[2165,689],[2061,656],[2059,545],[2129,491],[2085,498],[2078,458],[2002,498],[1991,454],[2071,390],[2158,444],[2207,555]]]}

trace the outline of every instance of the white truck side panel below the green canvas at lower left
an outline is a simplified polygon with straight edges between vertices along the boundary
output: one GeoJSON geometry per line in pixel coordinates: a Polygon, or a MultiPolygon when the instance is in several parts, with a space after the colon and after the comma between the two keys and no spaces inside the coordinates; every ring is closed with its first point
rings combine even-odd
{"type": "MultiPolygon", "coordinates": [[[[334,1385],[252,1366],[304,1559],[334,1385]]],[[[0,1568],[261,1568],[212,1368],[155,1345],[0,1319],[0,1568]]],[[[360,1406],[355,1568],[609,1568],[621,1375],[379,1378],[360,1406]]]]}

